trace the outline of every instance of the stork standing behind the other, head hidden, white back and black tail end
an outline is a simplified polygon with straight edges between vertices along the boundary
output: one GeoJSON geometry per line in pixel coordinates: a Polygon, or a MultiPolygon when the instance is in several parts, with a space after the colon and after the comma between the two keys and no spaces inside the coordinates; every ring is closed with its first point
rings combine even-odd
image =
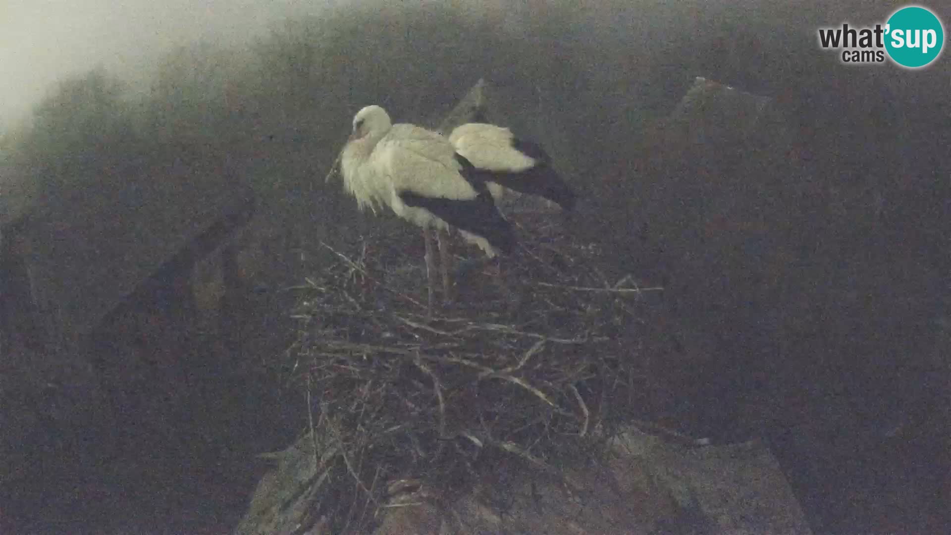
{"type": "Polygon", "coordinates": [[[480,171],[496,202],[509,188],[538,195],[565,210],[574,208],[574,191],[554,170],[548,153],[541,146],[516,137],[511,129],[467,123],[449,134],[449,142],[480,171]]]}

